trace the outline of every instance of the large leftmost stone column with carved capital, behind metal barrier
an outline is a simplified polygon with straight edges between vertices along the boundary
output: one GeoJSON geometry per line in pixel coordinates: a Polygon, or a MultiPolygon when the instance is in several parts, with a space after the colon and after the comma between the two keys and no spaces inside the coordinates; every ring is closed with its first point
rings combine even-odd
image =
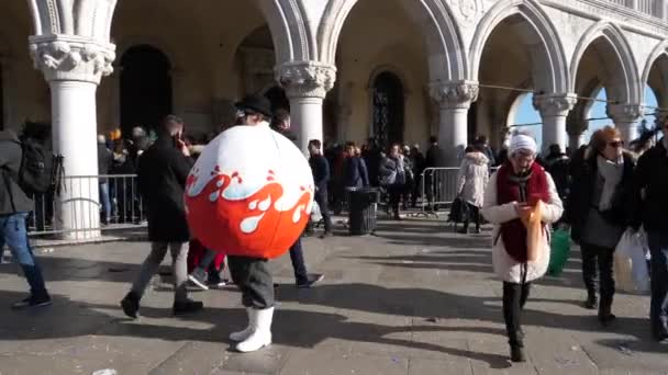
{"type": "Polygon", "coordinates": [[[114,46],[69,35],[33,36],[35,68],[51,86],[54,154],[64,174],[55,225],[66,239],[100,236],[96,90],[112,72],[114,46]]]}

